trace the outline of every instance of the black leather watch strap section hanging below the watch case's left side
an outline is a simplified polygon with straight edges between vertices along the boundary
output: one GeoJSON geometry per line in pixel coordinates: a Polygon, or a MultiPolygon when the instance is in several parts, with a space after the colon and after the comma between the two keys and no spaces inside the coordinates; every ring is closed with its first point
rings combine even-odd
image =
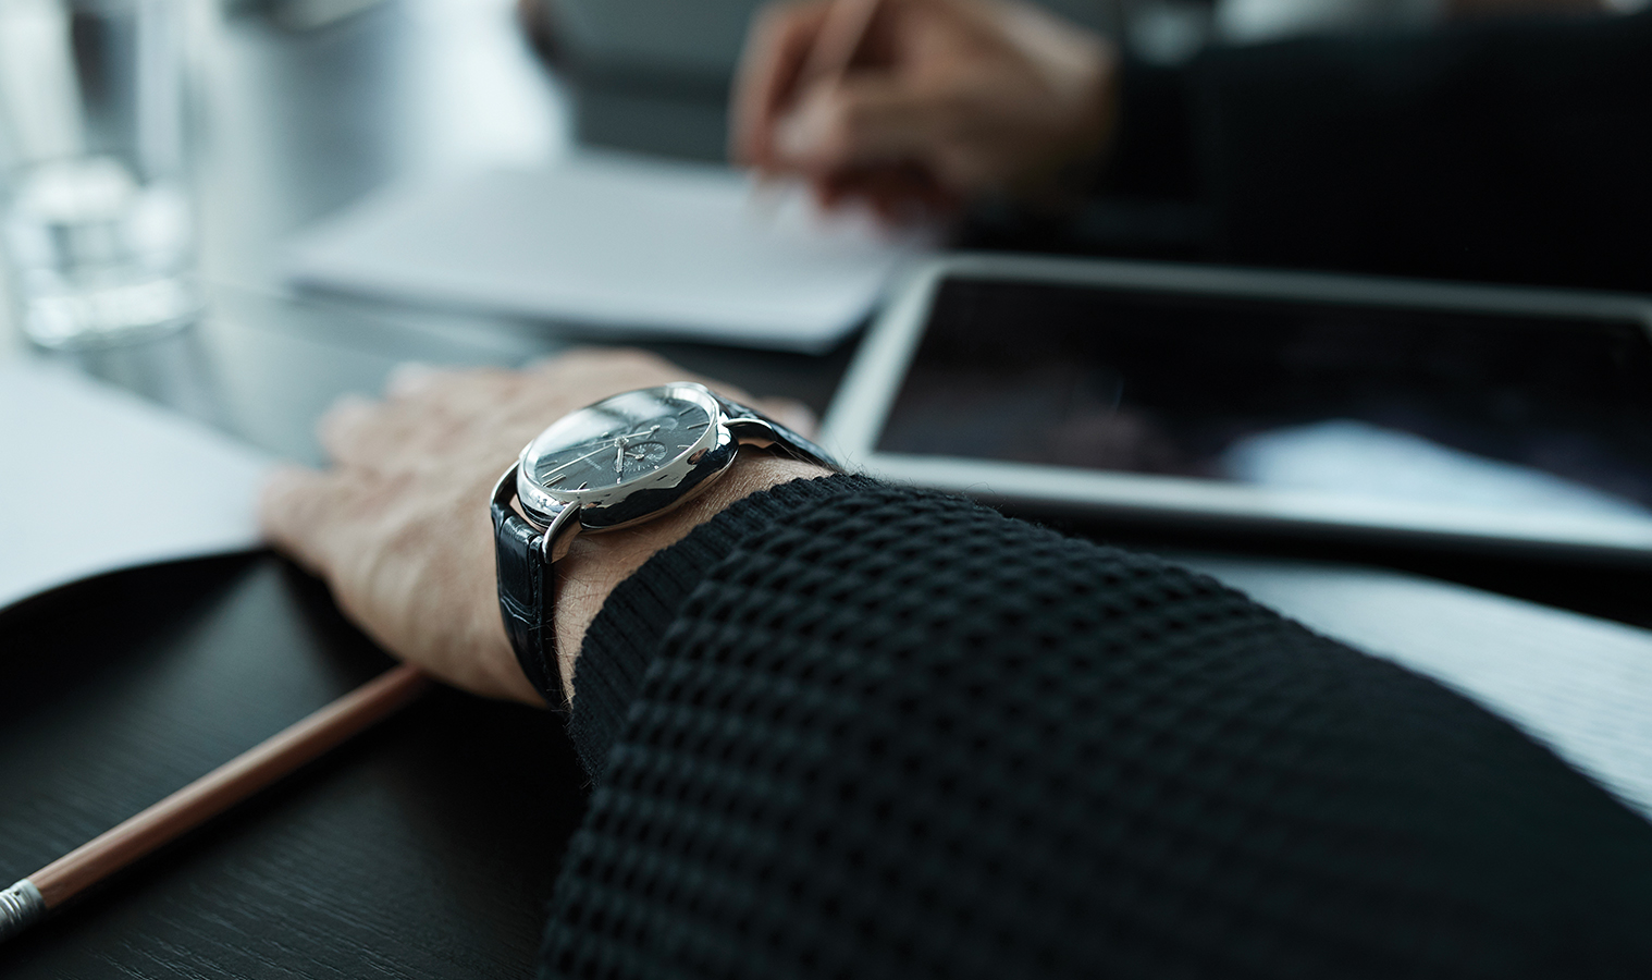
{"type": "Polygon", "coordinates": [[[499,613],[522,673],[555,709],[568,706],[557,664],[550,623],[550,565],[544,535],[494,494],[494,562],[499,575],[499,613]]]}

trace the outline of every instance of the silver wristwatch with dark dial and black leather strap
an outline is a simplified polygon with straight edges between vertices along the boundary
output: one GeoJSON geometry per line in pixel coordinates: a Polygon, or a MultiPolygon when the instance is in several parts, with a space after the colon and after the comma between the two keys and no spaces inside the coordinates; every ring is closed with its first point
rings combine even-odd
{"type": "Polygon", "coordinates": [[[631,527],[694,499],[729,473],[740,446],[838,469],[760,412],[674,382],[562,416],[499,478],[491,504],[499,611],[522,671],[540,691],[557,691],[558,707],[570,696],[550,620],[552,567],[580,532],[631,527]]]}

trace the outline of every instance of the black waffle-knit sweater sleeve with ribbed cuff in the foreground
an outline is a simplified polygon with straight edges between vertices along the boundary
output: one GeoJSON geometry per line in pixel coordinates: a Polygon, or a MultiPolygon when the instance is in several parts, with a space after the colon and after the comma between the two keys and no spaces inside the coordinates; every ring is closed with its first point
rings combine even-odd
{"type": "Polygon", "coordinates": [[[593,625],[555,977],[1652,975],[1652,828],[1155,559],[856,478],[593,625]]]}

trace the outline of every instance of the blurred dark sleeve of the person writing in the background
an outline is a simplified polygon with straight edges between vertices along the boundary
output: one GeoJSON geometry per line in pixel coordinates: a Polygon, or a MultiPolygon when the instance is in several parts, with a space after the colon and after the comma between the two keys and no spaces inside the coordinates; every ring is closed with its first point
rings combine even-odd
{"type": "Polygon", "coordinates": [[[1122,119],[1108,192],[1198,200],[1203,258],[1652,289],[1652,13],[1132,64],[1122,119]]]}

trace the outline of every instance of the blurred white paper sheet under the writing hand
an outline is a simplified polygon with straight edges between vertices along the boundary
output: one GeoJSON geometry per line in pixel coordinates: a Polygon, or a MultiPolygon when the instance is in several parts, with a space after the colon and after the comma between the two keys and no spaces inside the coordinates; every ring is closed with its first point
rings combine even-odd
{"type": "Polygon", "coordinates": [[[824,350],[925,233],[819,215],[724,167],[577,157],[385,190],[301,236],[299,284],[750,347],[824,350]]]}

